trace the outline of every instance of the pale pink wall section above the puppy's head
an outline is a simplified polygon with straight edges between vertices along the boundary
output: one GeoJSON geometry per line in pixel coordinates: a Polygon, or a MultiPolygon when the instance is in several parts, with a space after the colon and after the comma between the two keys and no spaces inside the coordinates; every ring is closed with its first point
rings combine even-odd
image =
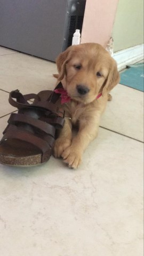
{"type": "Polygon", "coordinates": [[[113,29],[118,0],[86,0],[81,43],[106,47],[113,29]]]}

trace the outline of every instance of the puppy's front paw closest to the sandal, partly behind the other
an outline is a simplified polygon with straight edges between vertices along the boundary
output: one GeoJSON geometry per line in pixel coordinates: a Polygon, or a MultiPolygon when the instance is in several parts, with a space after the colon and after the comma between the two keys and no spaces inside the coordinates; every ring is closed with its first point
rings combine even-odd
{"type": "Polygon", "coordinates": [[[58,138],[55,141],[54,148],[53,148],[53,155],[55,157],[60,157],[63,151],[71,145],[71,140],[65,138],[58,138]]]}

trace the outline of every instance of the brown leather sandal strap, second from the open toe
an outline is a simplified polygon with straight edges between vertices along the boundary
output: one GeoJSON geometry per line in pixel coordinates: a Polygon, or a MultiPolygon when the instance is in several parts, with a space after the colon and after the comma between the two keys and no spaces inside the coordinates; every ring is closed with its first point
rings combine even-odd
{"type": "Polygon", "coordinates": [[[25,114],[12,113],[7,122],[9,124],[26,123],[36,127],[37,129],[41,130],[42,132],[45,132],[46,134],[51,135],[52,137],[54,137],[55,135],[55,128],[51,124],[43,122],[39,119],[35,119],[25,114]]]}

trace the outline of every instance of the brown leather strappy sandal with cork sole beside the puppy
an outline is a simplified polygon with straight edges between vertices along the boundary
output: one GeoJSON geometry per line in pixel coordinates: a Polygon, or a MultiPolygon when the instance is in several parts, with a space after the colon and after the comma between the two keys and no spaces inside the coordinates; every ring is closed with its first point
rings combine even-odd
{"type": "MultiPolygon", "coordinates": [[[[61,83],[56,88],[60,87],[61,83]]],[[[12,113],[7,121],[0,142],[0,163],[33,166],[47,162],[55,132],[65,123],[60,96],[53,91],[22,95],[15,90],[10,93],[9,102],[18,108],[18,114],[12,113]],[[30,104],[31,99],[34,102],[30,104]]]]}

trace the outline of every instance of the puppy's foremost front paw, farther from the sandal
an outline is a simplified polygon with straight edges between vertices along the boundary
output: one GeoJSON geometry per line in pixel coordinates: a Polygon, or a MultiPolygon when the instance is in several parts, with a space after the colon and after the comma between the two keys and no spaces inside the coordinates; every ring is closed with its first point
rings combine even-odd
{"type": "Polygon", "coordinates": [[[67,163],[70,168],[76,169],[82,162],[82,154],[79,153],[73,146],[66,148],[61,156],[64,159],[64,162],[67,163]]]}

